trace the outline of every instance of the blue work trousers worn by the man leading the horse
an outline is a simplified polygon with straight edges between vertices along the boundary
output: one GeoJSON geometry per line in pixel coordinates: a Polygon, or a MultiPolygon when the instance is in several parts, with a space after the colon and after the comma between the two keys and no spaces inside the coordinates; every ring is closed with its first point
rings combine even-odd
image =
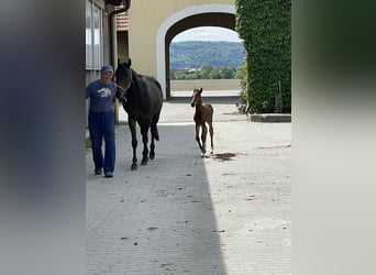
{"type": "Polygon", "coordinates": [[[89,133],[92,148],[92,160],[96,169],[113,172],[115,165],[114,114],[108,112],[89,112],[89,133]],[[102,141],[104,138],[104,158],[102,141]]]}

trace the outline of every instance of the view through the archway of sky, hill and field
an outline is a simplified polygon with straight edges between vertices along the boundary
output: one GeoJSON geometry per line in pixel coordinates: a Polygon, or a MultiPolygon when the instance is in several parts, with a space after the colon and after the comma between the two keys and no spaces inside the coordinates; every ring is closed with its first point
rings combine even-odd
{"type": "Polygon", "coordinates": [[[169,46],[169,97],[189,97],[200,87],[206,95],[237,97],[244,56],[231,29],[199,26],[177,34],[169,46]]]}

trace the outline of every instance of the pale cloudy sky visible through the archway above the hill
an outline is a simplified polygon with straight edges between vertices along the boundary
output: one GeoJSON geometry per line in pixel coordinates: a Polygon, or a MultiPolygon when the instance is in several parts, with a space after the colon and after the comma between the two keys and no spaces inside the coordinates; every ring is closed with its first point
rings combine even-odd
{"type": "Polygon", "coordinates": [[[173,42],[181,41],[230,41],[241,42],[237,37],[237,33],[219,26],[200,26],[189,29],[185,32],[179,33],[173,40],[173,42]]]}

